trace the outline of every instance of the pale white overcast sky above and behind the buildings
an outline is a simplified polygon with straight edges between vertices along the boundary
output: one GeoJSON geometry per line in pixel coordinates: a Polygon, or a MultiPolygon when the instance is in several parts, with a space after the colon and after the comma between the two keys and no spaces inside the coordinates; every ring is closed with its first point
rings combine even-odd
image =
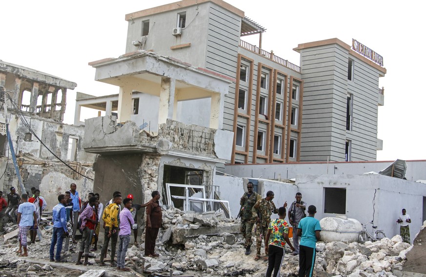
{"type": "MultiPolygon", "coordinates": [[[[4,1],[0,59],[76,82],[77,88],[67,92],[65,123],[72,124],[76,92],[118,93],[118,88],[94,81],[95,69],[87,63],[124,54],[124,15],[170,2],[4,1]]],[[[379,84],[385,87],[385,106],[379,107],[378,138],[384,142],[377,160],[426,159],[425,123],[420,124],[426,93],[417,84],[425,78],[423,1],[227,2],[267,29],[264,50],[295,64],[300,57],[292,49],[299,43],[333,37],[349,45],[355,38],[382,55],[387,74],[379,84]]],[[[252,37],[249,42],[258,41],[257,35],[252,37]]]]}

